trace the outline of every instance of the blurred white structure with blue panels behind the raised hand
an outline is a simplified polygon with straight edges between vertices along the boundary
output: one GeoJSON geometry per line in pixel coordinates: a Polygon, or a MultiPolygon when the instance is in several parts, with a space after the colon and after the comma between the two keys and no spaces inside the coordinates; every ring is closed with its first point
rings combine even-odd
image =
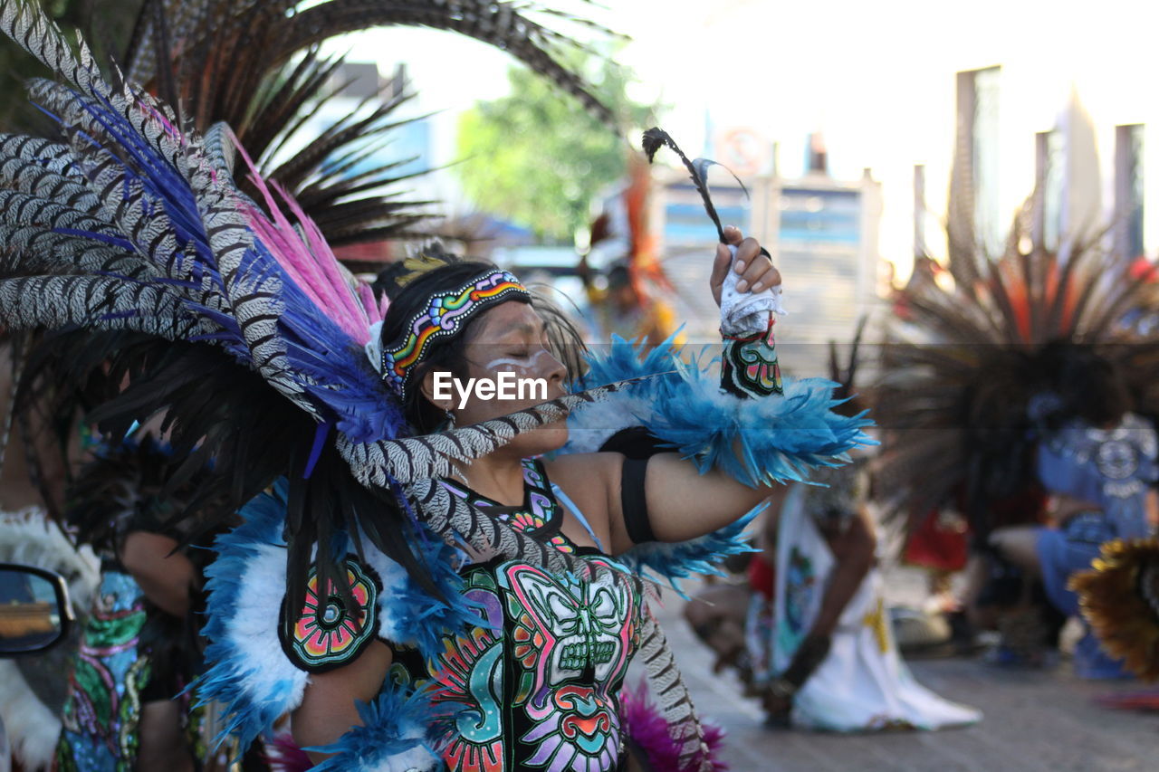
{"type": "MultiPolygon", "coordinates": [[[[745,138],[748,143],[750,138],[745,138]]],[[[834,180],[819,134],[810,138],[804,176],[780,176],[775,151],[755,153],[742,176],[748,195],[727,172],[710,172],[721,223],[756,236],[785,277],[778,320],[782,369],[795,376],[828,372],[828,342],[847,343],[858,320],[881,307],[877,296],[881,184],[866,169],[859,180],[834,180]]],[[[741,166],[741,165],[738,165],[741,166]]],[[[719,340],[719,312],[708,293],[715,233],[687,173],[657,168],[650,221],[658,254],[676,284],[688,340],[719,340]]]]}

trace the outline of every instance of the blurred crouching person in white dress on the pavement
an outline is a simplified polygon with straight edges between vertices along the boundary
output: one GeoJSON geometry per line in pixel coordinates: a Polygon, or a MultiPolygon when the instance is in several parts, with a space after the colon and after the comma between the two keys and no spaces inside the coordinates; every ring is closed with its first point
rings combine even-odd
{"type": "Polygon", "coordinates": [[[796,483],[766,522],[770,600],[753,596],[755,684],[771,724],[940,729],[982,714],[918,684],[897,653],[861,464],[796,483]],[[761,621],[764,620],[764,621],[761,621]]]}

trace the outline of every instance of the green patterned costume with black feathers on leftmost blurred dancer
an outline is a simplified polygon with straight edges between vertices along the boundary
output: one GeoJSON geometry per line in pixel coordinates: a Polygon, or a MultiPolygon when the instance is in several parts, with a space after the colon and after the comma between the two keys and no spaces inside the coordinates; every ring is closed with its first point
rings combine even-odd
{"type": "MultiPolygon", "coordinates": [[[[190,752],[204,751],[210,737],[202,712],[194,712],[182,690],[199,667],[197,617],[173,617],[150,602],[121,562],[125,538],[136,531],[167,533],[184,540],[165,520],[180,511],[201,488],[205,473],[189,485],[167,490],[180,460],[146,437],[115,450],[100,449],[70,486],[74,502],[66,519],[78,539],[101,559],[101,583],[86,616],[80,646],[68,668],[68,695],[54,769],[61,772],[121,772],[137,765],[141,708],[152,701],[176,700],[181,729],[190,752]]],[[[191,527],[196,519],[182,525],[191,527]]],[[[187,551],[195,569],[210,553],[187,551]]],[[[194,588],[189,589],[195,593],[194,588]]],[[[190,599],[190,605],[196,603],[190,599]]]]}

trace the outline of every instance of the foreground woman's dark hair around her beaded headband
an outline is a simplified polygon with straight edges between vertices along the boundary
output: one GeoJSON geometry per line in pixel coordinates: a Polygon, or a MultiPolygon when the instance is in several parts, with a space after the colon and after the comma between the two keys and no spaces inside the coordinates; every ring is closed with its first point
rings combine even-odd
{"type": "MultiPolygon", "coordinates": [[[[398,287],[391,297],[386,319],[382,320],[382,345],[391,345],[403,335],[410,320],[427,308],[432,294],[461,286],[494,268],[493,263],[482,260],[459,260],[433,268],[398,287]]],[[[527,303],[542,316],[553,354],[568,366],[569,373],[576,374],[581,363],[578,355],[584,350],[584,345],[580,333],[571,322],[540,296],[532,294],[530,300],[523,296],[513,296],[511,300],[527,303]]],[[[481,316],[467,322],[458,335],[432,343],[428,355],[415,365],[413,387],[408,389],[407,400],[402,408],[407,422],[416,432],[433,431],[445,421],[443,412],[423,395],[418,385],[431,370],[445,370],[455,378],[466,377],[464,348],[476,334],[479,319],[481,316]]]]}

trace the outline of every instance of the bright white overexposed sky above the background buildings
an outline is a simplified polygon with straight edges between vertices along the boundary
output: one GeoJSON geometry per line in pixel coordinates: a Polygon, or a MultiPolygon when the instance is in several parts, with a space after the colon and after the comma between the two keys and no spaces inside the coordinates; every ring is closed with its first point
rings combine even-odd
{"type": "MultiPolygon", "coordinates": [[[[945,210],[954,141],[954,73],[1000,64],[1004,213],[1033,185],[1034,132],[1054,126],[1071,86],[1092,114],[1109,184],[1114,126],[1147,123],[1159,148],[1153,28],[1137,0],[563,0],[628,35],[618,60],[641,85],[634,96],[671,105],[662,125],[690,152],[715,131],[749,128],[780,145],[782,173],[801,169],[806,134],[822,130],[831,172],[883,183],[881,252],[907,271],[912,175],[926,165],[932,212],[945,210]]],[[[424,109],[446,117],[436,152],[453,152],[453,116],[505,93],[511,59],[453,34],[385,29],[343,42],[384,72],[407,61],[424,109]]],[[[1159,161],[1159,150],[1150,153],[1159,161]]],[[[447,158],[445,156],[445,158],[447,158]]],[[[1146,158],[1146,156],[1145,156],[1146,158]]],[[[447,158],[447,160],[450,160],[447,158]]],[[[1159,246],[1159,162],[1147,162],[1147,243],[1159,246]],[[1152,194],[1153,191],[1153,194],[1152,194]]],[[[1109,204],[1109,189],[1103,195],[1109,204]]],[[[938,248],[936,219],[930,243],[938,248]]]]}

